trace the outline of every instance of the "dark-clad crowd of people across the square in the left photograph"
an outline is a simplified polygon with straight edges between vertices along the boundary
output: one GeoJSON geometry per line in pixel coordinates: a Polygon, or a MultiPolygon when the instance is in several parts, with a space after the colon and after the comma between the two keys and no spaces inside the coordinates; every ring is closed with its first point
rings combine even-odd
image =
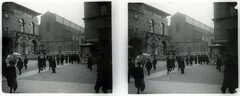
{"type": "MultiPolygon", "coordinates": [[[[94,58],[92,55],[88,55],[87,68],[92,71],[92,66],[97,65],[97,78],[94,90],[96,93],[99,93],[99,89],[102,87],[104,93],[108,93],[107,90],[112,89],[112,63],[104,57],[104,53],[98,53],[97,57],[94,58]]],[[[56,67],[58,65],[63,65],[65,63],[69,64],[80,64],[80,55],[78,54],[67,54],[67,55],[45,55],[37,57],[37,67],[38,73],[41,73],[44,69],[52,70],[52,73],[56,73],[56,67]],[[49,65],[47,65],[49,64],[49,65]]],[[[3,58],[3,76],[6,77],[8,86],[10,87],[10,93],[12,93],[13,84],[17,79],[16,68],[19,70],[19,75],[22,74],[22,69],[25,67],[27,70],[28,58],[27,56],[18,58],[16,62],[11,59],[9,62],[6,62],[6,59],[3,58]]]]}

